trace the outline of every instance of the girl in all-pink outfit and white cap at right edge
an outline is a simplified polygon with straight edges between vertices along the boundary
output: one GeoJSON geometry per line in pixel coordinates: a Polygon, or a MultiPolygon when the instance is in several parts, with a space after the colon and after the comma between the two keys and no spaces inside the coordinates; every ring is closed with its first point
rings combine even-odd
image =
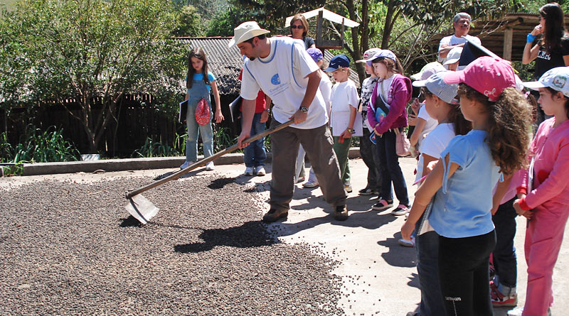
{"type": "Polygon", "coordinates": [[[541,108],[553,118],[543,121],[530,146],[529,172],[514,202],[518,214],[528,218],[526,305],[508,315],[551,315],[553,266],[569,217],[569,67],[548,70],[537,82],[524,85],[539,90],[541,108]]]}

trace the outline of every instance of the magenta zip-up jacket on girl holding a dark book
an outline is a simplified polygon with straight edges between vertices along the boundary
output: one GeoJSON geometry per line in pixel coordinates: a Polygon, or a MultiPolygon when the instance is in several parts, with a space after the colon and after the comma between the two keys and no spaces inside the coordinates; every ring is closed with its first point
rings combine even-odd
{"type": "Polygon", "coordinates": [[[368,122],[370,126],[374,126],[378,134],[383,134],[388,129],[395,129],[397,127],[407,126],[407,103],[411,99],[413,87],[411,87],[411,80],[408,77],[395,74],[391,87],[389,87],[388,99],[389,113],[381,122],[376,121],[377,106],[373,104],[373,99],[380,98],[378,96],[378,85],[380,80],[376,82],[376,87],[373,88],[373,93],[368,103],[368,122]],[[379,124],[378,124],[379,123],[379,124]]]}

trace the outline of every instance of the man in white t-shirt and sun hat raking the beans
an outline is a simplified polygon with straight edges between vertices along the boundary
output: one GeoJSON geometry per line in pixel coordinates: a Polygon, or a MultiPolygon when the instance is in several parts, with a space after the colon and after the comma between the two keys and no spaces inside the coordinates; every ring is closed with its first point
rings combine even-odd
{"type": "Polygon", "coordinates": [[[243,129],[238,138],[239,147],[248,146],[243,141],[250,137],[259,89],[275,104],[271,127],[294,119],[294,124],[271,136],[270,210],[263,221],[275,222],[288,215],[299,143],[302,143],[312,163],[324,199],[334,206],[334,218],[346,220],[346,192],[327,126],[326,105],[318,89],[319,67],[301,42],[284,36],[267,38],[267,33],[270,31],[248,21],[234,29],[234,36],[229,42],[229,47],[237,45],[240,53],[248,58],[243,65],[241,81],[243,129]]]}

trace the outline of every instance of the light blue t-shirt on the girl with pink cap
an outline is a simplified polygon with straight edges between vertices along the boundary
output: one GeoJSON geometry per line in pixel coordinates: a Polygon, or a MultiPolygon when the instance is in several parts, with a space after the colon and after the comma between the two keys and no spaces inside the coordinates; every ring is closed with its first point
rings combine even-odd
{"type": "Polygon", "coordinates": [[[492,189],[501,173],[492,159],[486,135],[486,131],[472,130],[455,136],[440,155],[445,175],[435,195],[429,223],[441,236],[463,238],[494,230],[490,213],[492,189]],[[447,154],[449,163],[445,165],[447,154]],[[459,168],[448,179],[451,163],[459,168]]]}

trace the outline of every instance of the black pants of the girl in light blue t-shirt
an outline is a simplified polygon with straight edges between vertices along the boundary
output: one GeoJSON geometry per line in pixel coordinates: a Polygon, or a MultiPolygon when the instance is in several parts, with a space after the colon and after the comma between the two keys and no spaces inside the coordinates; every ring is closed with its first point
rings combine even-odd
{"type": "Polygon", "coordinates": [[[465,237],[439,237],[439,279],[447,315],[493,315],[489,260],[496,232],[465,237]]]}

